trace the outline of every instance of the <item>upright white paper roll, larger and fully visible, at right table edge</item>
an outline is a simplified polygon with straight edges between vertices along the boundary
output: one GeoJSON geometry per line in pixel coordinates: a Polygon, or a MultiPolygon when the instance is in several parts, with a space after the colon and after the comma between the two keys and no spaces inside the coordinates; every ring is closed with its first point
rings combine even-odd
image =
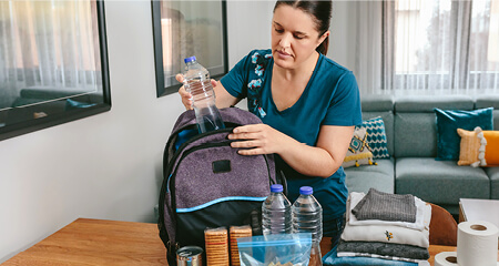
{"type": "Polygon", "coordinates": [[[457,260],[459,266],[497,266],[499,229],[485,221],[458,225],[457,260]]]}

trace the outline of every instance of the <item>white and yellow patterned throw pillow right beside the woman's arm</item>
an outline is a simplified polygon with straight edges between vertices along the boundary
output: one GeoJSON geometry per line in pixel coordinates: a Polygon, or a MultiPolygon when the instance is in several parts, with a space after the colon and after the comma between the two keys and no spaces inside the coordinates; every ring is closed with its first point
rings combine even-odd
{"type": "Polygon", "coordinates": [[[367,143],[367,132],[365,127],[355,129],[354,137],[352,137],[350,146],[343,161],[342,166],[344,168],[350,166],[360,166],[363,164],[376,164],[373,162],[373,153],[370,152],[369,144],[367,143]]]}

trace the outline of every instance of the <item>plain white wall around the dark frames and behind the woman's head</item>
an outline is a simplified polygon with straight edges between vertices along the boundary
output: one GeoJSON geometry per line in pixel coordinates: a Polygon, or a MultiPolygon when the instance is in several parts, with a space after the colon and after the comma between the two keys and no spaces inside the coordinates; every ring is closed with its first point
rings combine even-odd
{"type": "MultiPolygon", "coordinates": [[[[227,6],[232,66],[269,47],[274,2],[227,6]]],[[[151,2],[105,1],[105,16],[111,111],[0,142],[0,263],[78,217],[154,222],[163,147],[184,109],[155,94],[151,2]]],[[[349,63],[337,40],[329,57],[349,63]]]]}

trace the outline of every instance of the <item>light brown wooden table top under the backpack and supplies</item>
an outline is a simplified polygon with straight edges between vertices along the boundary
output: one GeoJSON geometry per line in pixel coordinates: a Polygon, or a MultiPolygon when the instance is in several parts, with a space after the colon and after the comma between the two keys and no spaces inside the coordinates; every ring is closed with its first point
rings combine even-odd
{"type": "MultiPolygon", "coordinates": [[[[330,238],[320,243],[323,256],[330,238]]],[[[429,262],[441,252],[456,247],[429,247],[429,262]]],[[[166,249],[155,224],[79,218],[14,257],[12,265],[167,265],[166,249]]]]}

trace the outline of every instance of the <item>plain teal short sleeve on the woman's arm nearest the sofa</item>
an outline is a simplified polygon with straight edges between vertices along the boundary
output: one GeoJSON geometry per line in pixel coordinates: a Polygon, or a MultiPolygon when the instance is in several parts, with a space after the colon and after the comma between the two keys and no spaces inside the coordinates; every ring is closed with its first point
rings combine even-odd
{"type": "Polygon", "coordinates": [[[355,75],[348,71],[336,83],[323,124],[350,126],[361,123],[360,93],[355,75]]]}

